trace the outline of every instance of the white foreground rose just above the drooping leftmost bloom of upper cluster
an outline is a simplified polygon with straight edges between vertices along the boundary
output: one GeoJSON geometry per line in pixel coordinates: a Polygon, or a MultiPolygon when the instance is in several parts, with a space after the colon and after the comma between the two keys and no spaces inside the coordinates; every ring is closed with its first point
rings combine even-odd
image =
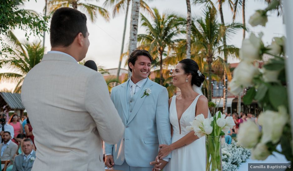
{"type": "Polygon", "coordinates": [[[253,77],[258,73],[258,69],[252,63],[240,62],[234,69],[233,79],[243,87],[250,87],[253,86],[253,77]]]}

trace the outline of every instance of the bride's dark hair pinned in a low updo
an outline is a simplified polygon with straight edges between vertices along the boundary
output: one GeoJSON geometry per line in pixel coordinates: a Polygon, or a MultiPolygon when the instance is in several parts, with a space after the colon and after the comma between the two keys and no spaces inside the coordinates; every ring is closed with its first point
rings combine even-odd
{"type": "Polygon", "coordinates": [[[197,71],[199,70],[198,64],[192,59],[183,59],[179,63],[182,64],[182,68],[185,73],[192,75],[191,85],[201,86],[201,83],[204,82],[204,74],[201,76],[198,75],[197,71]]]}

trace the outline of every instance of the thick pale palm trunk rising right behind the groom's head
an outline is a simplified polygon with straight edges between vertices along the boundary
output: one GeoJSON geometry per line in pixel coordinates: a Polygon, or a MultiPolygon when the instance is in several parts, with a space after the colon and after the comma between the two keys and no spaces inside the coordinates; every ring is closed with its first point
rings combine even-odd
{"type": "MultiPolygon", "coordinates": [[[[139,7],[140,7],[140,0],[132,0],[130,36],[129,36],[129,54],[131,54],[134,50],[136,50],[139,7]]],[[[131,76],[131,72],[128,68],[128,78],[130,76],[131,76]]]]}

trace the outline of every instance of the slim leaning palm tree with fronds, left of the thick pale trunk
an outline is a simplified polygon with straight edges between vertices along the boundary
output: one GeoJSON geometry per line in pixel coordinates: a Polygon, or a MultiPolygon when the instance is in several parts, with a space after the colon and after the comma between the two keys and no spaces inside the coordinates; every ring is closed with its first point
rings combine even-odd
{"type": "MultiPolygon", "coordinates": [[[[119,58],[119,64],[118,64],[118,70],[117,70],[117,79],[119,79],[119,74],[120,74],[120,69],[121,69],[121,62],[122,62],[122,54],[123,54],[123,49],[124,49],[124,40],[125,40],[125,32],[126,32],[126,25],[127,25],[127,16],[128,16],[128,9],[129,9],[129,4],[131,0],[106,0],[104,2],[104,6],[113,6],[113,17],[115,17],[116,13],[119,13],[121,9],[125,10],[125,20],[124,20],[124,30],[123,30],[123,36],[122,36],[122,46],[121,46],[121,52],[120,52],[120,58],[119,58]]],[[[151,12],[151,8],[146,4],[144,1],[140,1],[140,8],[151,12]]]]}

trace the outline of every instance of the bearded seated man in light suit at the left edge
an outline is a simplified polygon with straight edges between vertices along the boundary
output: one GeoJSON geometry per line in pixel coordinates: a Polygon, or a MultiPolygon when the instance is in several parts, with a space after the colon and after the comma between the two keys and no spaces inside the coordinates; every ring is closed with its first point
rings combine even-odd
{"type": "MultiPolygon", "coordinates": [[[[13,156],[17,151],[17,145],[11,141],[10,132],[5,131],[2,135],[3,143],[0,144],[1,160],[13,160],[13,156]]],[[[8,165],[9,166],[9,165],[8,165]]],[[[4,164],[1,165],[4,167],[4,164]]]]}

